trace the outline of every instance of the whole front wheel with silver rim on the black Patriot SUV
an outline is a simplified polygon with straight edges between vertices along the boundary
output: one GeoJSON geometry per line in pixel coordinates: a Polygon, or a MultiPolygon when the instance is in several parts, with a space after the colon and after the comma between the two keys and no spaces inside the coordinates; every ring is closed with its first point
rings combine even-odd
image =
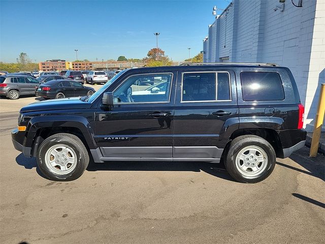
{"type": "Polygon", "coordinates": [[[85,145],[72,134],[52,135],[41,143],[37,151],[38,167],[48,179],[54,181],[75,180],[83,174],[88,164],[89,155],[85,145]]]}

